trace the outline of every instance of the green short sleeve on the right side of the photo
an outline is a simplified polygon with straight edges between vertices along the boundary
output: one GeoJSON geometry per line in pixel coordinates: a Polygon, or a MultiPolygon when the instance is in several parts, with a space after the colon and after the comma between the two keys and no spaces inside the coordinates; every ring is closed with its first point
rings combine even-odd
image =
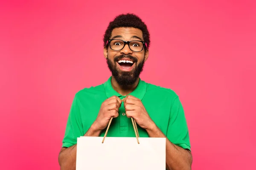
{"type": "Polygon", "coordinates": [[[173,144],[190,150],[189,130],[179,97],[172,102],[166,137],[173,144]]]}

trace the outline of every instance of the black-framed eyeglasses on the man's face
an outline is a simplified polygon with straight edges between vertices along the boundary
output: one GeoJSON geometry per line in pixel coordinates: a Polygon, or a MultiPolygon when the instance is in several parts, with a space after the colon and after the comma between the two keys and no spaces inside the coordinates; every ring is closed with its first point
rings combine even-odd
{"type": "Polygon", "coordinates": [[[122,50],[126,44],[128,44],[131,51],[134,51],[134,52],[142,51],[144,48],[144,45],[147,47],[147,43],[145,43],[144,41],[138,41],[138,40],[124,41],[124,40],[119,40],[119,39],[111,39],[111,40],[108,40],[107,44],[108,43],[109,43],[111,50],[113,50],[113,51],[122,50]]]}

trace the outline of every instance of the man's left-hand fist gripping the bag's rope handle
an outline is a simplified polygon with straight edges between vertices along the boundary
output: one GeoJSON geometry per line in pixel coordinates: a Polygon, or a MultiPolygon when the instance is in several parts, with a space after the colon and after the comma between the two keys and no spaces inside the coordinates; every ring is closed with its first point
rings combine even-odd
{"type": "Polygon", "coordinates": [[[103,130],[108,126],[108,122],[111,117],[116,118],[119,114],[119,108],[121,106],[121,99],[117,96],[112,96],[106,99],[99,110],[96,120],[93,122],[93,127],[97,130],[103,130]]]}

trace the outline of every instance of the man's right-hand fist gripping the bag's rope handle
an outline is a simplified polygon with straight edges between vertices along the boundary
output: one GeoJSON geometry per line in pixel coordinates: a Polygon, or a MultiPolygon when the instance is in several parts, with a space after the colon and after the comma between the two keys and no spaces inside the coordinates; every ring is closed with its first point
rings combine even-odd
{"type": "Polygon", "coordinates": [[[145,130],[154,127],[154,121],[148,115],[148,112],[140,99],[134,96],[127,96],[124,99],[124,106],[126,116],[128,118],[133,117],[140,127],[144,128],[145,130]]]}

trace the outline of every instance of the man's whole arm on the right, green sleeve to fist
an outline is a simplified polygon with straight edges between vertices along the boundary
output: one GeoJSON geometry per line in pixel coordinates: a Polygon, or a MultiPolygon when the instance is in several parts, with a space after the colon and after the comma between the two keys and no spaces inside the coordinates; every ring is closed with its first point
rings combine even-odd
{"type": "MultiPolygon", "coordinates": [[[[167,135],[157,127],[148,115],[143,103],[134,96],[127,96],[124,100],[127,117],[133,117],[137,124],[144,128],[149,137],[166,138],[166,167],[168,170],[191,170],[192,155],[190,151],[173,144],[170,141],[186,146],[188,142],[188,130],[183,108],[178,98],[171,108],[171,116],[168,123],[167,135]],[[173,140],[169,140],[173,139],[173,140]],[[184,140],[185,139],[185,140],[184,140]],[[184,143],[183,143],[184,142],[184,143]]],[[[187,146],[187,148],[190,148],[187,146]]]]}

